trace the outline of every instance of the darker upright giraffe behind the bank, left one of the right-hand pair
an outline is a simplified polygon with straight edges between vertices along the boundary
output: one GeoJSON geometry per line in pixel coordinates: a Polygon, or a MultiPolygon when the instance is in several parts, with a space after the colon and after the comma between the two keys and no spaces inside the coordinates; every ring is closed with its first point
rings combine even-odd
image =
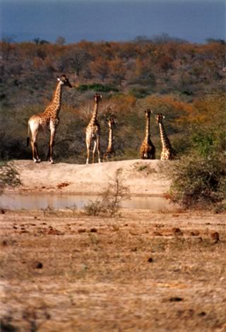
{"type": "Polygon", "coordinates": [[[140,148],[141,159],[155,159],[155,146],[150,140],[150,109],[145,110],[146,127],[145,127],[145,138],[140,148]]]}

